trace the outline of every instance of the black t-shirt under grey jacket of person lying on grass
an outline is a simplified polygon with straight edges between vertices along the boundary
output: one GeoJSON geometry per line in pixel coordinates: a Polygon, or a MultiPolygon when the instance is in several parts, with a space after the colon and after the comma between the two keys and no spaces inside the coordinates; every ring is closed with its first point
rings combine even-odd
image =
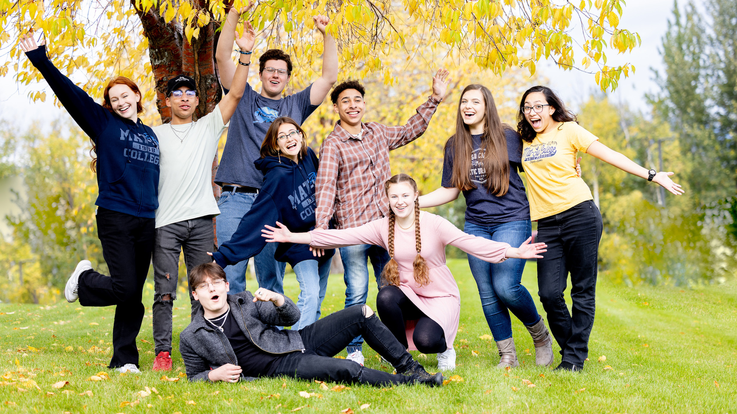
{"type": "Polygon", "coordinates": [[[238,365],[243,370],[242,376],[273,375],[276,367],[279,366],[279,361],[282,359],[281,355],[270,354],[254,345],[240,329],[230,312],[209,320],[216,326],[223,324],[223,334],[226,334],[228,343],[231,344],[235,352],[238,365]],[[223,317],[226,318],[225,323],[223,323],[223,317]]]}

